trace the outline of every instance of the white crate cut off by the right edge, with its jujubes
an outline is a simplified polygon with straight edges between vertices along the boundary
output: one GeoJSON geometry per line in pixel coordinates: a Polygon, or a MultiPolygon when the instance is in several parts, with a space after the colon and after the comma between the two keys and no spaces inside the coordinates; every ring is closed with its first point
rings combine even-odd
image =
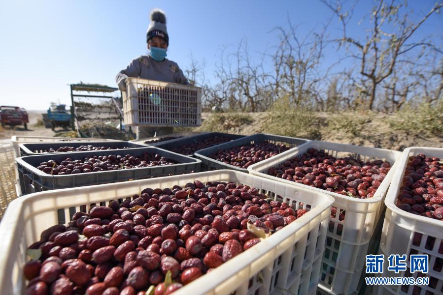
{"type": "Polygon", "coordinates": [[[427,277],[429,284],[377,286],[374,294],[443,294],[443,148],[406,148],[397,162],[384,201],[381,276],[427,277]],[[406,254],[406,271],[386,269],[387,258],[396,254],[406,254]],[[428,272],[411,273],[410,255],[429,255],[428,272]]]}

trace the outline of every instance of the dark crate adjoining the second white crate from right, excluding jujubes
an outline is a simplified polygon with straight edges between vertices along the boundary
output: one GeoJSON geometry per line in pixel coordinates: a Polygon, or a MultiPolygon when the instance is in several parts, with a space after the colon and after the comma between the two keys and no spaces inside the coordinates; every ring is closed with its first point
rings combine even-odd
{"type": "Polygon", "coordinates": [[[239,168],[237,166],[233,166],[230,164],[226,164],[226,163],[217,161],[215,159],[212,159],[211,156],[219,150],[225,150],[225,149],[235,148],[235,147],[249,145],[249,144],[261,143],[261,142],[264,142],[265,140],[267,140],[273,144],[282,143],[287,146],[289,145],[291,148],[300,146],[300,145],[309,141],[309,140],[303,139],[303,138],[295,138],[295,137],[287,137],[287,136],[259,133],[259,134],[246,136],[246,137],[237,139],[232,142],[217,145],[217,146],[214,146],[211,148],[204,148],[204,149],[198,150],[195,153],[195,156],[202,160],[202,164],[203,164],[202,169],[204,169],[204,170],[234,169],[237,171],[242,171],[242,172],[248,173],[248,170],[245,168],[239,168]]]}

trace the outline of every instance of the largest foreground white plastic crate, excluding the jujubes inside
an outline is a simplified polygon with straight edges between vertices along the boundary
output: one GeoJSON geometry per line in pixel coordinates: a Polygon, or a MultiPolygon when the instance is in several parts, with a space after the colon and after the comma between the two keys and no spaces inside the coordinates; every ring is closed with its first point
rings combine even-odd
{"type": "Polygon", "coordinates": [[[236,295],[265,295],[285,294],[284,290],[301,295],[315,293],[334,199],[324,193],[270,179],[232,170],[218,170],[45,191],[16,199],[0,223],[0,269],[3,273],[0,276],[0,294],[23,293],[25,279],[22,267],[27,261],[27,247],[39,239],[44,229],[70,220],[81,205],[100,203],[106,206],[110,200],[131,198],[147,187],[172,187],[196,179],[203,182],[233,181],[254,186],[271,198],[284,200],[295,209],[306,208],[309,212],[250,250],[180,289],[175,295],[231,294],[234,291],[236,295]]]}

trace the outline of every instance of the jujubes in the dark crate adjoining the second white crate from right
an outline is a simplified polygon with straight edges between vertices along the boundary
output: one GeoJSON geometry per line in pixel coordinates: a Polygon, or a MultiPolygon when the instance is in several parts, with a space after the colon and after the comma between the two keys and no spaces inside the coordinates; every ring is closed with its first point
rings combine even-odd
{"type": "Polygon", "coordinates": [[[286,145],[272,144],[265,140],[257,144],[219,150],[216,154],[211,155],[211,158],[225,164],[246,169],[252,164],[271,158],[289,148],[286,145]]]}

